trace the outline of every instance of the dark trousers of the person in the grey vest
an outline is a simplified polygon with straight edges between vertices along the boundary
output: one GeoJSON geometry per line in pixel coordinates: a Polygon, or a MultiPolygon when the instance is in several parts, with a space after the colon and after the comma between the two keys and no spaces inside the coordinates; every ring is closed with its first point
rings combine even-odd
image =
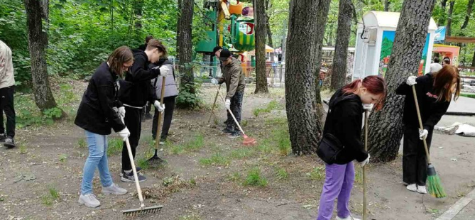
{"type": "MultiPolygon", "coordinates": [[[[163,111],[163,126],[162,133],[160,135],[160,141],[167,140],[168,131],[170,131],[170,125],[172,124],[173,110],[175,110],[175,97],[163,98],[163,104],[165,104],[165,111],[163,111]]],[[[158,109],[155,108],[155,114],[153,114],[152,122],[152,138],[155,140],[157,137],[157,120],[158,109]]]]}

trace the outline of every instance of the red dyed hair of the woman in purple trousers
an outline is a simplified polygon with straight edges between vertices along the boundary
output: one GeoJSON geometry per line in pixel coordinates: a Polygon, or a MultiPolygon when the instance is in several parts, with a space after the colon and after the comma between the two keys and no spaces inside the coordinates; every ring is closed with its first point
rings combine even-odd
{"type": "Polygon", "coordinates": [[[368,76],[364,79],[356,79],[350,84],[344,86],[343,92],[345,94],[354,93],[356,92],[356,90],[359,89],[360,85],[368,89],[368,92],[371,92],[372,94],[382,94],[381,99],[378,100],[376,106],[374,107],[376,111],[383,109],[384,100],[386,99],[386,95],[388,93],[386,87],[386,80],[384,80],[383,77],[378,76],[368,76]]]}

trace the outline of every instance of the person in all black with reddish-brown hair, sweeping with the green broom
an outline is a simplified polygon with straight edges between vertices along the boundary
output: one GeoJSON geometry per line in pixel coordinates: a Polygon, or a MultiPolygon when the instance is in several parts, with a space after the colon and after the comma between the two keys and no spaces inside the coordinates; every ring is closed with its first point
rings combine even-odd
{"type": "MultiPolygon", "coordinates": [[[[460,94],[459,70],[453,65],[445,65],[439,72],[430,73],[422,77],[408,77],[406,82],[400,84],[396,94],[405,95],[403,122],[405,126],[403,138],[403,182],[407,189],[422,194],[427,193],[425,181],[427,180],[427,158],[425,155],[425,137],[427,148],[430,148],[434,126],[447,112],[454,95],[454,101],[460,94]],[[413,89],[417,94],[420,116],[424,130],[419,128],[419,119],[415,109],[413,89]]],[[[428,150],[428,149],[427,149],[428,150]]]]}

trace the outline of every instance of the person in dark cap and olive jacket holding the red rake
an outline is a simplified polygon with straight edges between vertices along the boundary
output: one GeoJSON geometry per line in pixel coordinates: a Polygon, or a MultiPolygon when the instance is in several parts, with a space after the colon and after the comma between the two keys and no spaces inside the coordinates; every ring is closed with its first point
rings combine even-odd
{"type": "MultiPolygon", "coordinates": [[[[219,60],[223,65],[223,75],[219,79],[211,79],[212,84],[226,83],[226,101],[224,105],[226,109],[231,109],[236,121],[241,123],[241,109],[242,99],[244,97],[244,88],[246,82],[244,80],[244,73],[242,72],[241,62],[234,57],[231,57],[231,53],[228,49],[221,50],[219,60]]],[[[224,133],[229,133],[229,138],[236,138],[241,136],[239,127],[232,119],[231,114],[227,114],[227,124],[224,128],[224,133]]]]}

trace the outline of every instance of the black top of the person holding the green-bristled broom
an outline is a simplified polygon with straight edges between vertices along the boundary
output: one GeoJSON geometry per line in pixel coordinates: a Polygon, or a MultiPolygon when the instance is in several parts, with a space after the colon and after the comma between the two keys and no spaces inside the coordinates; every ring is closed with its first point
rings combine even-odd
{"type": "MultiPolygon", "coordinates": [[[[422,118],[422,126],[427,131],[434,128],[440,121],[440,118],[449,109],[450,101],[437,101],[437,94],[434,92],[434,78],[432,73],[426,74],[415,79],[415,93],[417,94],[417,102],[419,103],[420,117],[422,118]]],[[[415,109],[415,101],[413,89],[403,82],[396,89],[396,94],[405,95],[403,121],[405,126],[419,128],[419,120],[417,119],[417,111],[415,109]]]]}

